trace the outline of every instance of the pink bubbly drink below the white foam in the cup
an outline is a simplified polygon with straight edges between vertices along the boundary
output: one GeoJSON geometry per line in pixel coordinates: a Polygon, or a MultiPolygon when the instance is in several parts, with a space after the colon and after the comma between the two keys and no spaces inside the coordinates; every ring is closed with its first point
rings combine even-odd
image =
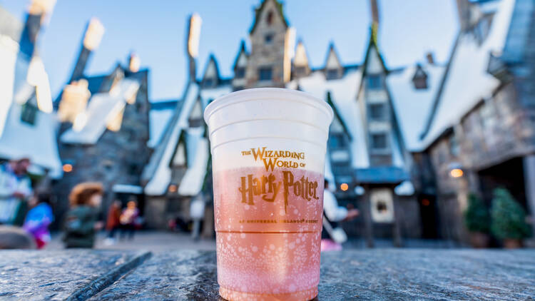
{"type": "Polygon", "coordinates": [[[314,298],[323,175],[290,168],[225,170],[214,174],[214,191],[220,294],[228,300],[314,298]]]}

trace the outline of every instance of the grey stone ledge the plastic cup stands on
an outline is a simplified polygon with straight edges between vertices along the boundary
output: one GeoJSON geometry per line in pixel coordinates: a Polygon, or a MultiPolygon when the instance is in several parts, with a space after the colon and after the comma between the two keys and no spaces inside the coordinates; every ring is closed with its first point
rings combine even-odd
{"type": "MultiPolygon", "coordinates": [[[[3,251],[0,300],[222,300],[215,252],[143,254],[3,251]]],[[[317,300],[535,300],[535,250],[330,252],[319,290],[317,300]]]]}

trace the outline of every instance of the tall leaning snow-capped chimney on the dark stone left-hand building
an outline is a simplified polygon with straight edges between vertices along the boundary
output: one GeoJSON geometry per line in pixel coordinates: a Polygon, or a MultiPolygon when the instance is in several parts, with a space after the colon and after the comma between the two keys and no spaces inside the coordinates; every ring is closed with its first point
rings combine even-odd
{"type": "Polygon", "coordinates": [[[104,26],[101,24],[101,21],[95,17],[91,18],[87,24],[86,32],[83,35],[82,48],[80,49],[78,60],[76,61],[76,65],[74,65],[74,70],[68,83],[78,81],[83,76],[89,56],[101,44],[103,34],[104,26]]]}

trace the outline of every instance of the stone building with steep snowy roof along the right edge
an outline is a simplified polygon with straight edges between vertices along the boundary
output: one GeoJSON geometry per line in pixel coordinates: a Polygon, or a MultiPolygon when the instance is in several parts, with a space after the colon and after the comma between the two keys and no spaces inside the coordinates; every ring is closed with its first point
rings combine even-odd
{"type": "Polygon", "coordinates": [[[434,170],[442,235],[466,241],[469,193],[490,206],[492,190],[504,187],[535,213],[534,4],[459,0],[457,7],[461,28],[422,133],[422,158],[434,170]]]}

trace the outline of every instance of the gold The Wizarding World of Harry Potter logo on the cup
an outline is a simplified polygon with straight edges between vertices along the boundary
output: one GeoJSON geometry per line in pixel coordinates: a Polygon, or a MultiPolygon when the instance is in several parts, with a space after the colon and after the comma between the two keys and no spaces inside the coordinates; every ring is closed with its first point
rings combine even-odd
{"type": "Polygon", "coordinates": [[[304,152],[295,151],[272,151],[266,147],[250,148],[249,151],[242,151],[243,156],[252,155],[255,161],[261,161],[269,174],[253,175],[248,174],[241,177],[241,185],[238,188],[242,195],[241,203],[255,205],[255,197],[265,202],[274,202],[277,195],[282,193],[284,197],[284,210],[287,212],[288,196],[293,193],[295,197],[309,201],[318,200],[317,180],[310,181],[308,177],[302,175],[300,179],[295,179],[291,170],[277,172],[274,168],[304,168],[304,152]],[[282,175],[277,180],[276,175],[282,175]]]}

